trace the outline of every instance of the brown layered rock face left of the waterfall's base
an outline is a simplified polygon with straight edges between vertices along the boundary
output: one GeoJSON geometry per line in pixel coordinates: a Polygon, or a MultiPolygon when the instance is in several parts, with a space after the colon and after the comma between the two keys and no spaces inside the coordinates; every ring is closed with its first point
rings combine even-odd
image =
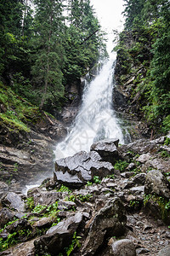
{"type": "MultiPolygon", "coordinates": [[[[14,191],[32,181],[43,180],[49,173],[51,176],[53,149],[56,142],[65,137],[66,129],[59,121],[44,118],[32,125],[29,133],[19,134],[20,137],[14,137],[8,131],[0,131],[0,180],[10,183],[14,191]],[[1,134],[6,138],[4,141],[1,134]]],[[[6,187],[8,190],[7,184],[6,187]]]]}

